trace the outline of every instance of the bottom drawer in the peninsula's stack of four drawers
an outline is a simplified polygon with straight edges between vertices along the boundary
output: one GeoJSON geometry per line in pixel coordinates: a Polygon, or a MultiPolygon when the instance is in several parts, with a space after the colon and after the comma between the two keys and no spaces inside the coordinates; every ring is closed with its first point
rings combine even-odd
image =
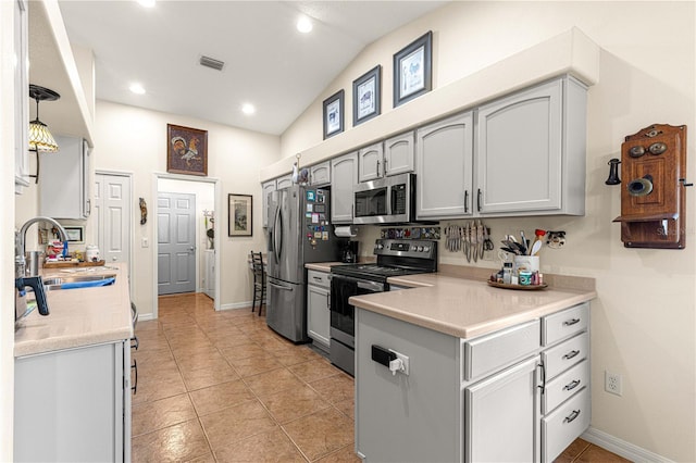
{"type": "Polygon", "coordinates": [[[589,389],[584,388],[542,420],[542,461],[552,462],[589,426],[589,389]]]}

